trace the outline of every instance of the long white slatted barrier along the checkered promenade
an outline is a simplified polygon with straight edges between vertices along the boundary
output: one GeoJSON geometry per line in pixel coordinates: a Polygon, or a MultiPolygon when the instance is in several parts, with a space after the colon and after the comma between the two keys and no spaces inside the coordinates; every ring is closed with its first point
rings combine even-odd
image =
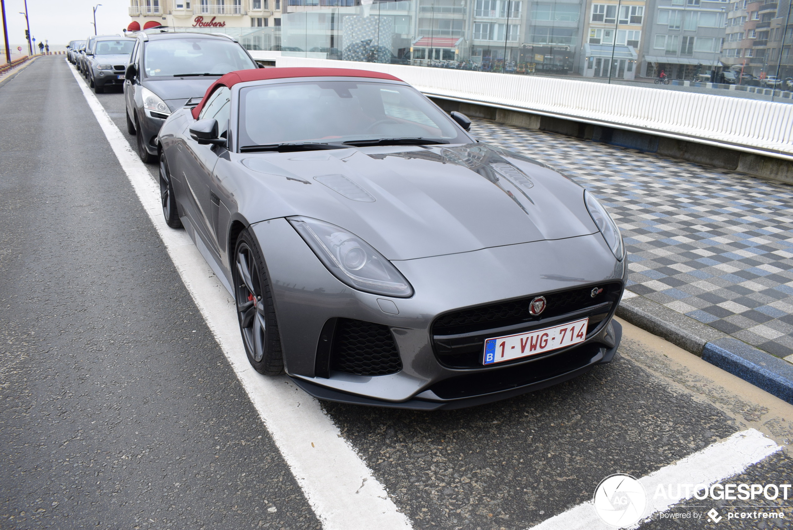
{"type": "Polygon", "coordinates": [[[429,96],[644,132],[793,161],[793,105],[741,97],[544,78],[279,57],[278,67],[381,71],[429,96]]]}

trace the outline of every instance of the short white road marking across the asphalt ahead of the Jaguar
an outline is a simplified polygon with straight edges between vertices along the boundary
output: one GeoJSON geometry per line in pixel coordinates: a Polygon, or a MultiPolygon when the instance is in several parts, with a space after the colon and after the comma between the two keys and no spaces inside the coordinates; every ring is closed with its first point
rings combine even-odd
{"type": "MultiPolygon", "coordinates": [[[[711,444],[702,451],[686,456],[676,463],[661,467],[658,471],[639,479],[647,492],[646,517],[631,528],[638,528],[642,522],[649,520],[654,514],[665,512],[678,502],[693,497],[693,493],[691,493],[688,497],[679,500],[653,498],[659,484],[707,484],[707,486],[711,486],[711,484],[745,471],[753,463],[760,462],[780,449],[782,449],[780,445],[765,437],[757,429],[749,429],[734,433],[726,440],[711,444]]],[[[603,478],[605,479],[605,477],[603,478]]],[[[676,486],[674,493],[676,493],[676,486]]],[[[532,530],[579,529],[614,530],[614,527],[600,520],[600,517],[595,513],[592,501],[577,505],[532,527],[532,530]]]]}

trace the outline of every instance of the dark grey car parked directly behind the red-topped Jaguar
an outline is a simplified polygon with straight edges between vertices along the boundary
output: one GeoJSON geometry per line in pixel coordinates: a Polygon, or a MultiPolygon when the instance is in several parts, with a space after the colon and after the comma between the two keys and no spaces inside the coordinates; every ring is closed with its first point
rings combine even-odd
{"type": "Polygon", "coordinates": [[[217,78],[259,65],[235,39],[206,33],[139,33],[125,73],[127,130],[144,162],[155,162],[155,139],[171,112],[199,101],[217,78]]]}

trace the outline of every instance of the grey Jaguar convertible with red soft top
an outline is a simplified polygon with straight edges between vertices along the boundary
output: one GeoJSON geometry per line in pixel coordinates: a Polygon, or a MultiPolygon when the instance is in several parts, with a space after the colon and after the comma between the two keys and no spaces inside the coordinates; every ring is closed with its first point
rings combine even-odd
{"type": "Polygon", "coordinates": [[[163,214],[248,359],[320,399],[435,410],[614,357],[623,241],[579,185],[388,74],[226,74],[159,132],[163,214]]]}

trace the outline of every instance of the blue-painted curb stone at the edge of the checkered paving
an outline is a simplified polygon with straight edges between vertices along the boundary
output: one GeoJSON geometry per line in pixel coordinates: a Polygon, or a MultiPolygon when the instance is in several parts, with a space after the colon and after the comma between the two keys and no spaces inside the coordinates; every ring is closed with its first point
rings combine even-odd
{"type": "Polygon", "coordinates": [[[793,404],[793,365],[787,361],[731,337],[708,342],[702,358],[793,404]]]}

